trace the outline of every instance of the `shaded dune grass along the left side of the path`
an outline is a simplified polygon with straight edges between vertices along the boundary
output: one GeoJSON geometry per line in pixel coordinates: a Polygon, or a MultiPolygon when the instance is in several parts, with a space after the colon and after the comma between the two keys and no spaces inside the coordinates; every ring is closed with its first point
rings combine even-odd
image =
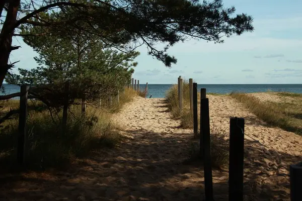
{"type": "MultiPolygon", "coordinates": [[[[26,167],[34,170],[62,168],[68,166],[74,158],[84,157],[105,147],[114,147],[123,137],[120,135],[118,125],[112,122],[111,115],[118,112],[135,95],[135,91],[126,89],[118,105],[108,110],[88,106],[85,115],[81,114],[80,106],[70,106],[66,132],[61,129],[61,113],[58,116],[53,115],[52,119],[42,104],[39,106],[38,102],[29,102],[29,108],[35,105],[36,110],[32,107],[33,110],[29,110],[28,114],[29,152],[26,167]]],[[[18,100],[10,100],[5,105],[12,109],[19,108],[18,100]]],[[[0,128],[2,168],[18,166],[16,164],[18,117],[19,115],[15,115],[0,128]]]]}

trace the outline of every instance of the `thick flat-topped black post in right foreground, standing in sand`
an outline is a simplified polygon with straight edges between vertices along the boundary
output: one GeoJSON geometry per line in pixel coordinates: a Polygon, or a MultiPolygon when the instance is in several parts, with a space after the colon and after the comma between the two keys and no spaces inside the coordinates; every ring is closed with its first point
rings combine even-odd
{"type": "Polygon", "coordinates": [[[230,118],[229,200],[238,200],[238,201],[243,200],[243,159],[244,159],[244,119],[231,117],[230,118]]]}

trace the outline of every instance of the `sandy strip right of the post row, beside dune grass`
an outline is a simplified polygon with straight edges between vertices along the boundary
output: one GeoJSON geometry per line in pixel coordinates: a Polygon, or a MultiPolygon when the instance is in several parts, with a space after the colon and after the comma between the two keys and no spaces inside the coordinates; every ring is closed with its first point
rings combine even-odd
{"type": "Polygon", "coordinates": [[[230,117],[245,119],[245,181],[257,199],[289,200],[289,165],[302,161],[302,136],[268,126],[230,96],[208,97],[215,125],[229,129],[230,117]]]}

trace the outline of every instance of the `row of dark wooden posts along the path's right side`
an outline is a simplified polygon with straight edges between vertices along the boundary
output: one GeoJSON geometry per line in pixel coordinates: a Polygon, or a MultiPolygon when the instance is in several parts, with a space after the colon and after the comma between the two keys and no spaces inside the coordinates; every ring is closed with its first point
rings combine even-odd
{"type": "MultiPolygon", "coordinates": [[[[179,110],[182,113],[183,79],[178,77],[179,110]]],[[[190,110],[193,116],[193,136],[198,136],[198,112],[197,112],[197,83],[189,79],[190,86],[190,110]]],[[[229,153],[229,200],[243,201],[244,182],[244,118],[230,118],[230,153],[229,153]]],[[[210,120],[209,101],[206,98],[206,89],[200,89],[200,156],[204,162],[204,192],[205,200],[214,200],[211,147],[210,147],[210,120]]],[[[302,200],[302,162],[290,165],[290,200],[302,200]]]]}

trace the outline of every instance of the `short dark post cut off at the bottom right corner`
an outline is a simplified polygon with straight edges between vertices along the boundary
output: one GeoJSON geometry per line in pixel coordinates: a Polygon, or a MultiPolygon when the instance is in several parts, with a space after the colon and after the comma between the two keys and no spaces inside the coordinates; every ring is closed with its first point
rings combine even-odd
{"type": "Polygon", "coordinates": [[[302,200],[302,162],[289,166],[290,201],[302,200]]]}

